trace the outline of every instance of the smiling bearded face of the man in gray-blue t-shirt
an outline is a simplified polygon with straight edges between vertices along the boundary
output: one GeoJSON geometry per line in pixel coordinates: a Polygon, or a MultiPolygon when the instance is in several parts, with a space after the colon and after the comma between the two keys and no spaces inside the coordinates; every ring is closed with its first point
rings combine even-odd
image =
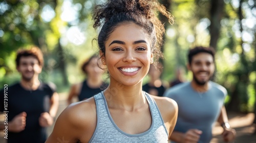
{"type": "Polygon", "coordinates": [[[198,85],[205,85],[214,74],[214,58],[208,53],[194,55],[189,70],[193,73],[193,80],[198,85]]]}

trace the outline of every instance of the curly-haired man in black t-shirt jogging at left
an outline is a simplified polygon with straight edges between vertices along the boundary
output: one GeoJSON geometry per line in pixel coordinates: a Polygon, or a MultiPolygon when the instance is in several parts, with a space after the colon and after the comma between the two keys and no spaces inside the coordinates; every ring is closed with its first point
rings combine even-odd
{"type": "Polygon", "coordinates": [[[45,84],[38,79],[43,63],[38,47],[18,51],[16,67],[22,79],[0,91],[0,111],[7,119],[0,129],[5,131],[8,143],[45,142],[46,127],[54,123],[58,94],[54,84],[45,84]]]}

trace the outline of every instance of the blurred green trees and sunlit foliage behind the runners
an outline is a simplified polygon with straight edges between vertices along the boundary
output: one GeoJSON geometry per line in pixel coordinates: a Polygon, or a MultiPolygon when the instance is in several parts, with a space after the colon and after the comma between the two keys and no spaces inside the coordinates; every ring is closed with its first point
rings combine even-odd
{"type": "MultiPolygon", "coordinates": [[[[40,80],[58,92],[84,76],[81,63],[97,50],[91,12],[104,0],[9,0],[0,2],[0,87],[19,81],[16,51],[37,45],[44,53],[40,80]]],[[[165,22],[162,80],[175,78],[186,66],[187,51],[196,45],[216,49],[214,81],[228,90],[229,111],[253,112],[256,97],[256,6],[253,0],[159,0],[175,17],[165,22]]],[[[191,73],[186,70],[190,80],[191,73]]],[[[144,82],[147,81],[147,78],[144,82]]],[[[255,110],[254,110],[255,111],[255,110]]]]}

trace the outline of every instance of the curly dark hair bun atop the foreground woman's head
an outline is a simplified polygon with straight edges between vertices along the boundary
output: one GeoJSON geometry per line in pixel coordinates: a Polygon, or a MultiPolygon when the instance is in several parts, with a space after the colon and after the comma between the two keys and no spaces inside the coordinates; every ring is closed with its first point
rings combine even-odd
{"type": "Polygon", "coordinates": [[[106,0],[104,4],[95,7],[93,17],[96,22],[93,27],[100,26],[101,22],[108,21],[112,16],[120,13],[136,13],[150,19],[154,17],[155,9],[161,9],[160,12],[169,19],[170,23],[173,22],[173,16],[157,0],[106,0]]]}

